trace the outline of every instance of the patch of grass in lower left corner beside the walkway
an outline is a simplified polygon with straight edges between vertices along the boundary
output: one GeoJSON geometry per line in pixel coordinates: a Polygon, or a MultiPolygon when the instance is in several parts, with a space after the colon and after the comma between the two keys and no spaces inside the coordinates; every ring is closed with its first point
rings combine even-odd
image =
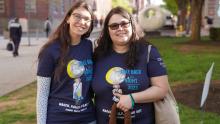
{"type": "Polygon", "coordinates": [[[0,97],[0,124],[36,123],[36,82],[0,97]]]}

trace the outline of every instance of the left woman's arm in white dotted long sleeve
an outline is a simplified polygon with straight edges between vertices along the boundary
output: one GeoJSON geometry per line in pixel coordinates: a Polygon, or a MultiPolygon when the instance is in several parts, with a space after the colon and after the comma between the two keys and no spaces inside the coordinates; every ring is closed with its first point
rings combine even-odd
{"type": "Polygon", "coordinates": [[[46,124],[50,77],[37,76],[37,124],[46,124]]]}

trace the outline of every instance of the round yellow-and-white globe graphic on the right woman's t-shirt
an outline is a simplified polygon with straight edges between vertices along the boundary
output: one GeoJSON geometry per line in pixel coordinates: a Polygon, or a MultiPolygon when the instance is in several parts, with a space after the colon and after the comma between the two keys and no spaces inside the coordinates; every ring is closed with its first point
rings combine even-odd
{"type": "Polygon", "coordinates": [[[111,84],[120,84],[125,80],[125,70],[120,67],[113,67],[111,68],[105,76],[106,81],[111,84]]]}

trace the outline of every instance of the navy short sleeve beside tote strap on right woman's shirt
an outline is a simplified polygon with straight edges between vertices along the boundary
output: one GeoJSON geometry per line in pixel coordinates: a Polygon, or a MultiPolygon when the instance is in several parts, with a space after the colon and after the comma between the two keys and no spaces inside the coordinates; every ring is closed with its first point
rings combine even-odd
{"type": "Polygon", "coordinates": [[[155,47],[150,51],[150,59],[147,65],[149,77],[167,75],[165,64],[160,56],[160,53],[155,47]]]}

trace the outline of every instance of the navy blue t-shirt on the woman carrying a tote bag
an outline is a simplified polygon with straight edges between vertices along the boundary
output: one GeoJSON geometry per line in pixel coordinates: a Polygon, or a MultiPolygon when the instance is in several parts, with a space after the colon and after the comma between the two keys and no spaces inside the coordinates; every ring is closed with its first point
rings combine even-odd
{"type": "MultiPolygon", "coordinates": [[[[140,48],[138,63],[134,69],[127,69],[125,65],[126,54],[116,52],[99,59],[94,66],[94,77],[92,88],[95,92],[95,106],[98,124],[107,124],[111,112],[112,85],[106,80],[106,75],[110,69],[120,67],[126,74],[124,81],[120,84],[123,94],[143,91],[151,86],[150,77],[166,75],[165,65],[160,57],[158,50],[152,47],[150,60],[147,64],[147,46],[140,48]]],[[[123,112],[117,112],[117,122],[123,123],[123,112]]],[[[133,124],[154,124],[153,103],[136,103],[131,110],[133,124]]]]}

